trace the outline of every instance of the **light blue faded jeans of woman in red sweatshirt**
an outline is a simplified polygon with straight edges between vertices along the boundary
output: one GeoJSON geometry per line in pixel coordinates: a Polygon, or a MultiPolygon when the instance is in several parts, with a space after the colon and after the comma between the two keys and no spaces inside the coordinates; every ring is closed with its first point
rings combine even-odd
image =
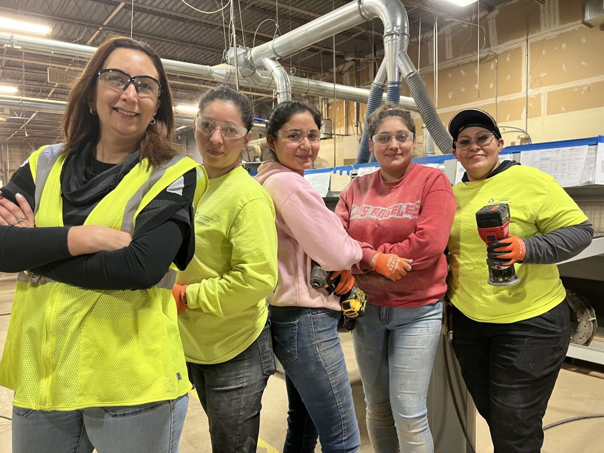
{"type": "Polygon", "coordinates": [[[352,331],[375,453],[432,453],[426,397],[439,343],[441,301],[414,308],[367,304],[352,331]]]}

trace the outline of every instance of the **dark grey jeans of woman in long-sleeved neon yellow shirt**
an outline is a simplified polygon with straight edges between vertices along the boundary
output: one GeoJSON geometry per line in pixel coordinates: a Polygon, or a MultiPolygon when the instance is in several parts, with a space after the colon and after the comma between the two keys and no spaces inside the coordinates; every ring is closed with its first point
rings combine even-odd
{"type": "Polygon", "coordinates": [[[189,362],[187,366],[208,416],[212,451],[255,452],[262,393],[275,372],[270,323],[245,351],[229,361],[211,365],[189,362]]]}

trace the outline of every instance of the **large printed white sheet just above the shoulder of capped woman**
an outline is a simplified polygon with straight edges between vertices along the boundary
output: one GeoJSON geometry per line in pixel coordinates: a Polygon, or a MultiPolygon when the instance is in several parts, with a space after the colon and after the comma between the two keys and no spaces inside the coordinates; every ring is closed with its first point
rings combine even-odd
{"type": "Polygon", "coordinates": [[[520,163],[553,176],[562,187],[581,185],[587,145],[521,151],[520,163]]]}

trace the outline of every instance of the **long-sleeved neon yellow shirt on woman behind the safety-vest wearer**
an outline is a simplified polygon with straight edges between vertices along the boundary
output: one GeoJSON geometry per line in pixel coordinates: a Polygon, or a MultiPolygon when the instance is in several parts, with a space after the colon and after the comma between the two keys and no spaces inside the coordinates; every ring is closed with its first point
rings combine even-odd
{"type": "Polygon", "coordinates": [[[277,284],[275,208],[243,167],[208,181],[195,211],[195,255],[176,283],[188,284],[189,309],[178,315],[188,362],[226,362],[262,332],[265,297],[277,284]]]}

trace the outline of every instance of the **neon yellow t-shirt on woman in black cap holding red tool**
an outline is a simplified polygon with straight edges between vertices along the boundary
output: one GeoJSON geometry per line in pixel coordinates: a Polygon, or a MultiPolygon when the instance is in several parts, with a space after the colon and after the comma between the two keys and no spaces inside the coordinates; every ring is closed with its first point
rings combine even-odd
{"type": "Polygon", "coordinates": [[[484,323],[515,323],[539,316],[566,297],[555,264],[518,264],[521,281],[487,283],[486,244],[478,236],[476,212],[483,206],[510,206],[510,234],[528,238],[588,220],[556,180],[532,167],[514,165],[481,181],[453,187],[457,211],[449,237],[448,296],[464,315],[484,323]]]}

